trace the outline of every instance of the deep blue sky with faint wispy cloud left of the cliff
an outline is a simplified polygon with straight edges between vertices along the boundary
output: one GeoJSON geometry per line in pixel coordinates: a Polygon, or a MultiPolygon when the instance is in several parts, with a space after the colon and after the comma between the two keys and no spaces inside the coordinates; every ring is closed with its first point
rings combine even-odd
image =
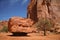
{"type": "Polygon", "coordinates": [[[29,0],[0,0],[0,20],[12,16],[26,17],[29,0]]]}

